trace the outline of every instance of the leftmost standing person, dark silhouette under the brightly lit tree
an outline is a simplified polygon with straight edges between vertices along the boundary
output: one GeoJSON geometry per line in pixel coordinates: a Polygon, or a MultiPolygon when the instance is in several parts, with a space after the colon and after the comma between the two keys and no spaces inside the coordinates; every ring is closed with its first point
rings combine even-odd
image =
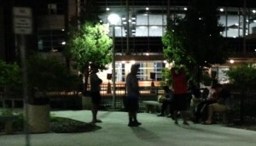
{"type": "Polygon", "coordinates": [[[92,113],[92,121],[91,123],[102,122],[97,119],[97,113],[102,101],[102,97],[100,94],[102,79],[97,76],[97,72],[99,71],[96,66],[91,66],[91,74],[90,74],[90,95],[91,95],[91,113],[92,113]]]}

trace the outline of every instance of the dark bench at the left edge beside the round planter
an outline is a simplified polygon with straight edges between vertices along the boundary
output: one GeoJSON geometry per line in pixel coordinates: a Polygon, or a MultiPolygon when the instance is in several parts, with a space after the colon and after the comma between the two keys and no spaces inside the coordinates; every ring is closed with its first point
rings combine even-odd
{"type": "Polygon", "coordinates": [[[13,121],[18,119],[18,115],[0,115],[0,121],[4,122],[4,132],[11,134],[13,121]]]}

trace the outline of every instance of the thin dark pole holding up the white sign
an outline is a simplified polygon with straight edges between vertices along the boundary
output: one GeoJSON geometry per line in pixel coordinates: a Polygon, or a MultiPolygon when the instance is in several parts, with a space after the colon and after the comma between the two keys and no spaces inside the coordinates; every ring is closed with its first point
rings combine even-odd
{"type": "Polygon", "coordinates": [[[30,146],[30,135],[28,132],[28,109],[26,103],[28,101],[27,95],[27,69],[26,69],[26,50],[25,50],[25,36],[20,36],[20,57],[23,69],[23,98],[24,98],[24,111],[25,111],[25,121],[24,129],[26,132],[26,146],[30,146]]]}

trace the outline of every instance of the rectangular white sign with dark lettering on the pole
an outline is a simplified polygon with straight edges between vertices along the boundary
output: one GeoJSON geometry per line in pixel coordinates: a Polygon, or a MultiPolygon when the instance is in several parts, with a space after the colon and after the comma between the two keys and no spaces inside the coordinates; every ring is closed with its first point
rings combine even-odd
{"type": "Polygon", "coordinates": [[[13,14],[15,34],[32,34],[32,9],[25,7],[15,7],[13,9],[13,14]]]}

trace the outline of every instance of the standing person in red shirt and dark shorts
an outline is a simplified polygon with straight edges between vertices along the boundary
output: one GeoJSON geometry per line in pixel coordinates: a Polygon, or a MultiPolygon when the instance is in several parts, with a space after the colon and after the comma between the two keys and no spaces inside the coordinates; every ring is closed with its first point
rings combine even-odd
{"type": "Polygon", "coordinates": [[[173,88],[173,109],[174,109],[174,123],[177,124],[177,112],[179,111],[183,118],[183,125],[189,126],[185,116],[185,110],[187,110],[187,94],[188,86],[186,81],[186,74],[183,67],[173,67],[171,69],[172,74],[172,88],[173,88]]]}

